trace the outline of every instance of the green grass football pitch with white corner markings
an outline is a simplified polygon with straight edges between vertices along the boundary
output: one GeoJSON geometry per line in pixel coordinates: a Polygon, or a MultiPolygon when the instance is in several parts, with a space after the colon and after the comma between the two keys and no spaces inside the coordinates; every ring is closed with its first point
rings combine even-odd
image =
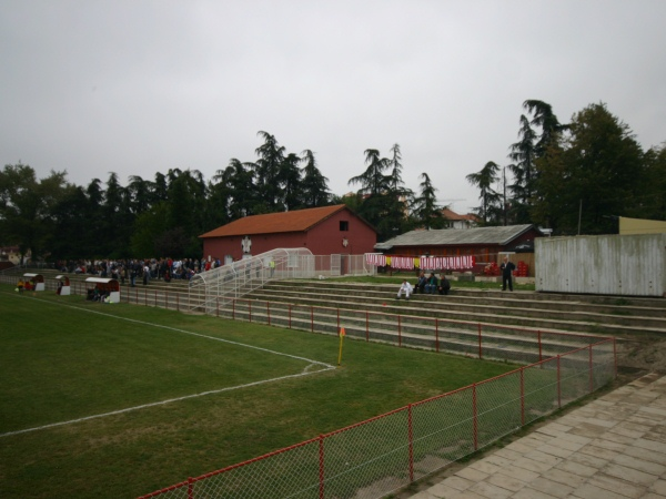
{"type": "Polygon", "coordinates": [[[0,317],[2,498],[137,497],[513,368],[9,285],[0,317]]]}

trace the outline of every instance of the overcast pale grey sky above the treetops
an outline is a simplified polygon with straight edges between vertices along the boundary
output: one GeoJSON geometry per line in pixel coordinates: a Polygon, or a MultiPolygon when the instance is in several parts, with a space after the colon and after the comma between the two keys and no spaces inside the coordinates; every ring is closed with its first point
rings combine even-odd
{"type": "Polygon", "coordinates": [[[397,143],[406,185],[426,172],[466,213],[527,99],[666,140],[665,20],[663,0],[0,0],[0,161],[210,180],[266,131],[343,194],[397,143]]]}

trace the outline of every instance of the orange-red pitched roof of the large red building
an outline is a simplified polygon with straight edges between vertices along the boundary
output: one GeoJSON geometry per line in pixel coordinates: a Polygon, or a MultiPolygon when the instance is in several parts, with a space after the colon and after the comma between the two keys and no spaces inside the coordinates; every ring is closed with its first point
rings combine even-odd
{"type": "Polygon", "coordinates": [[[214,231],[206,232],[199,237],[305,232],[342,210],[349,208],[344,204],[336,204],[333,206],[296,210],[293,212],[245,216],[230,222],[226,225],[222,225],[214,231]]]}

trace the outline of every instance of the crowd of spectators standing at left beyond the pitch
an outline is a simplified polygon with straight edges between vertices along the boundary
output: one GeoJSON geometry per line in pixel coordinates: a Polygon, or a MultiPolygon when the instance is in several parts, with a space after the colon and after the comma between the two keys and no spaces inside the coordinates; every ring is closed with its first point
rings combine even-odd
{"type": "Polygon", "coordinates": [[[219,258],[133,258],[133,259],[79,259],[58,262],[60,272],[87,274],[95,277],[113,278],[121,285],[147,285],[151,279],[167,283],[172,279],[191,279],[192,276],[222,265],[219,258]]]}

